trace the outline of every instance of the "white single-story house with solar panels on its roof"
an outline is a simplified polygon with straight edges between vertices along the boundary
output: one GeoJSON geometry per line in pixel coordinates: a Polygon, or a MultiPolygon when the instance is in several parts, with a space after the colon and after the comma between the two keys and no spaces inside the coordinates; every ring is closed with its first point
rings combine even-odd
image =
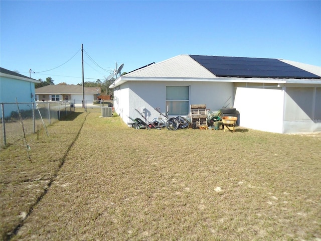
{"type": "Polygon", "coordinates": [[[189,115],[190,104],[235,107],[241,127],[274,133],[321,131],[321,67],[243,57],[179,55],[119,77],[114,108],[123,121],[189,115]]]}

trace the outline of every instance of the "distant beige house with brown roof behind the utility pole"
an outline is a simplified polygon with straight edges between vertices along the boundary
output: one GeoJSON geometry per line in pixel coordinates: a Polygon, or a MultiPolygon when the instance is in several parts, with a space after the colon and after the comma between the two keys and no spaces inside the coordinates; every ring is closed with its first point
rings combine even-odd
{"type": "MultiPolygon", "coordinates": [[[[100,95],[100,87],[85,87],[85,100],[92,104],[100,95]]],[[[37,101],[63,101],[69,100],[81,104],[83,100],[83,87],[80,85],[47,85],[36,89],[37,101]]]]}

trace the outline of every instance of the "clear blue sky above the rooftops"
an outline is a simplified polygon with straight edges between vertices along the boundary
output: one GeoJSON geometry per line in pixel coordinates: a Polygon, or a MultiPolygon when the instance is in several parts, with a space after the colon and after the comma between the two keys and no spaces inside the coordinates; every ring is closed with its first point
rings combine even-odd
{"type": "Polygon", "coordinates": [[[321,1],[2,0],[0,7],[1,67],[26,76],[32,69],[32,78],[55,84],[82,82],[81,44],[85,81],[104,80],[116,62],[129,72],[180,54],[321,66],[321,1]]]}

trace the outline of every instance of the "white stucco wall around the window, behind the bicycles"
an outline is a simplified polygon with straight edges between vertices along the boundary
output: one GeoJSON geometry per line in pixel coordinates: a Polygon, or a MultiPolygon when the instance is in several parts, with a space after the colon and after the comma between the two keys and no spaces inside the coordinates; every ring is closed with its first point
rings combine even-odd
{"type": "Polygon", "coordinates": [[[218,110],[233,104],[233,83],[194,81],[128,81],[114,89],[115,111],[125,123],[132,118],[143,119],[135,110],[142,112],[148,121],[159,116],[154,108],[166,113],[166,86],[189,86],[189,104],[206,104],[208,109],[218,110]]]}

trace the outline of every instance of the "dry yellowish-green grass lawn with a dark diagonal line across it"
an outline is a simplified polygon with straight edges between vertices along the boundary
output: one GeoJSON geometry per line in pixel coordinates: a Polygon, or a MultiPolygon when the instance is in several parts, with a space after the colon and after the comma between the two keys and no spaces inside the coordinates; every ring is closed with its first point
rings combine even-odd
{"type": "Polygon", "coordinates": [[[1,150],[1,240],[321,240],[321,135],[99,115],[1,150]]]}

